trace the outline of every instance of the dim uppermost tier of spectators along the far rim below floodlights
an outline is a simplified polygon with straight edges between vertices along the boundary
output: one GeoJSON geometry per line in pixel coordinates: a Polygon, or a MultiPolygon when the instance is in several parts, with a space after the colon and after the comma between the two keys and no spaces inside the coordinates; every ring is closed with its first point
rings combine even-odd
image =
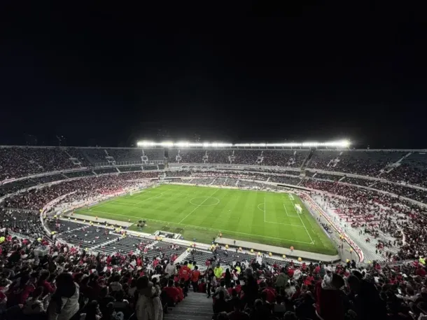
{"type": "MultiPolygon", "coordinates": [[[[100,162],[114,165],[116,162],[141,161],[143,154],[148,160],[164,160],[165,149],[0,147],[0,181],[44,172],[92,167],[100,162]]],[[[307,155],[309,151],[304,150],[170,149],[169,162],[298,168],[307,155]]],[[[307,168],[380,177],[427,187],[426,155],[412,153],[404,158],[405,155],[407,153],[402,151],[318,150],[307,161],[307,168]],[[404,160],[400,165],[392,166],[402,158],[404,160]]],[[[74,173],[67,174],[73,176],[74,173]]],[[[363,182],[361,179],[360,183],[363,182]]]]}

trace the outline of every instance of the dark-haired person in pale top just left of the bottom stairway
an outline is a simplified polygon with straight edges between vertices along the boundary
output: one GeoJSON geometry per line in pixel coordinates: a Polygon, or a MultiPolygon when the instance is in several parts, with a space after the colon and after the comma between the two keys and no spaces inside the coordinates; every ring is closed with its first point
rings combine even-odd
{"type": "Polygon", "coordinates": [[[147,276],[137,280],[139,297],[135,307],[138,320],[162,320],[163,308],[160,300],[160,288],[153,286],[153,282],[147,276]]]}

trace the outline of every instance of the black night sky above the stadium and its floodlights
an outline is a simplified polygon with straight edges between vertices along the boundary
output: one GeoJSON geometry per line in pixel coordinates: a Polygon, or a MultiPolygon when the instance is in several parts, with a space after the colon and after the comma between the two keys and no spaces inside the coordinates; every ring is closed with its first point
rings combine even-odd
{"type": "Polygon", "coordinates": [[[197,133],[427,148],[416,8],[34,2],[2,11],[0,144],[57,145],[59,135],[69,146],[130,146],[197,133]]]}

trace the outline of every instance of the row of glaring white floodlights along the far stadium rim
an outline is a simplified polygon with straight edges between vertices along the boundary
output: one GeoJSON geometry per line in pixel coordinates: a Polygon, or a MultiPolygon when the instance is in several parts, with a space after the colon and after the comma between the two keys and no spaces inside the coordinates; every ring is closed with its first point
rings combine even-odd
{"type": "Polygon", "coordinates": [[[349,148],[351,145],[349,140],[338,140],[338,141],[328,141],[328,142],[317,142],[317,141],[309,141],[309,142],[286,142],[286,143],[278,143],[278,144],[228,144],[225,142],[189,142],[189,141],[162,141],[162,142],[154,142],[154,141],[138,141],[137,146],[141,147],[179,147],[179,148],[192,148],[192,147],[203,147],[203,148],[226,148],[226,147],[287,147],[287,148],[317,148],[317,147],[332,147],[332,148],[349,148]]]}

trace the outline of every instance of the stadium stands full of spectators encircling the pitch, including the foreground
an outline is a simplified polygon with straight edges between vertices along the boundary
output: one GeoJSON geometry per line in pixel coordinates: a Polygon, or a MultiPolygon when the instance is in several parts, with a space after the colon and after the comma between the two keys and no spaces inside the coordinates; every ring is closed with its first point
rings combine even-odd
{"type": "Polygon", "coordinates": [[[422,150],[0,147],[1,316],[423,319],[426,164],[422,150]],[[54,216],[168,180],[302,190],[363,263],[188,251],[54,216]]]}

